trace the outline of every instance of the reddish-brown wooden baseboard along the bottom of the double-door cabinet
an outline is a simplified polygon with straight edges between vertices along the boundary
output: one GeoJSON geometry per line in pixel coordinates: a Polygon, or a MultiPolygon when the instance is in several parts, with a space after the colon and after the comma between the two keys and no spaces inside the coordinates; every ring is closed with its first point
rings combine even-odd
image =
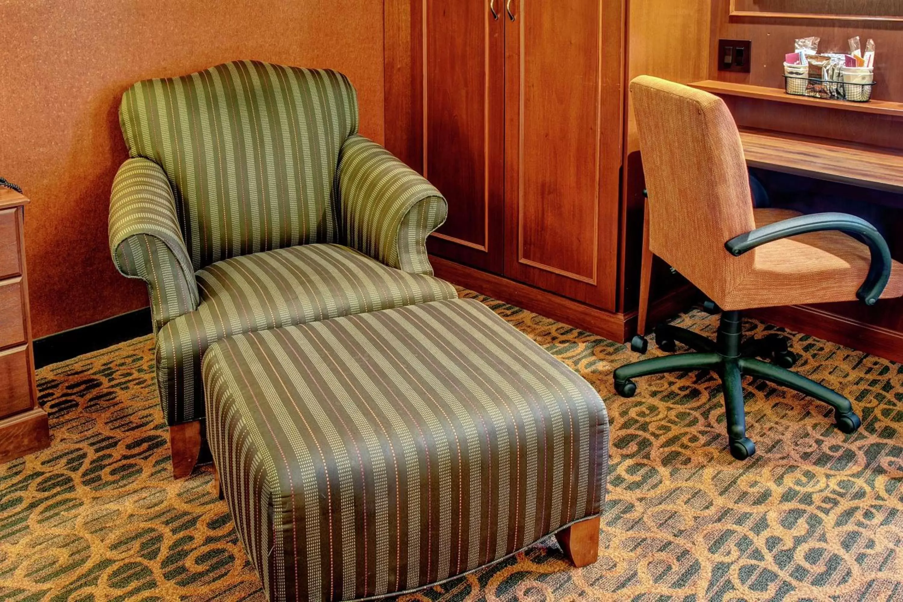
{"type": "MultiPolygon", "coordinates": [[[[637,311],[627,314],[601,310],[580,301],[573,301],[543,291],[522,282],[509,280],[494,273],[482,272],[466,265],[430,256],[436,276],[458,284],[471,291],[480,292],[528,311],[535,311],[546,318],[558,320],[600,337],[624,343],[637,332],[637,311]]],[[[665,320],[685,310],[696,295],[693,287],[682,287],[652,304],[649,323],[665,320]]]]}

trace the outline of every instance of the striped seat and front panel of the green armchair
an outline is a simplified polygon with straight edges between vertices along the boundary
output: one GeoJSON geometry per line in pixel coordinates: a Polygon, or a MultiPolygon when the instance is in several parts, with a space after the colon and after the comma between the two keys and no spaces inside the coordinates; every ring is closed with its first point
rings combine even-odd
{"type": "Polygon", "coordinates": [[[448,282],[390,268],[342,245],[233,257],[200,270],[197,281],[198,309],[157,336],[157,386],[169,424],[203,417],[200,359],[220,338],[458,296],[448,282]]]}

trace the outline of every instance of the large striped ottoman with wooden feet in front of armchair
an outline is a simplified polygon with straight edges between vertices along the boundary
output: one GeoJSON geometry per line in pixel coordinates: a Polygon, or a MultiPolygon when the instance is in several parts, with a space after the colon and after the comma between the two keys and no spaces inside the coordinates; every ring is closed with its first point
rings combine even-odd
{"type": "Polygon", "coordinates": [[[218,487],[271,600],[422,588],[549,533],[596,560],[605,406],[477,301],[225,338],[202,373],[218,487]]]}

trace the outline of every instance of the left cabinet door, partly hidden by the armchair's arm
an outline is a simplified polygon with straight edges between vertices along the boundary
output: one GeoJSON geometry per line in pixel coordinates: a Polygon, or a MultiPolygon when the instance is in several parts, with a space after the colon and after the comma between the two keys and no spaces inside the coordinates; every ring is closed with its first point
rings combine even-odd
{"type": "MultiPolygon", "coordinates": [[[[448,199],[429,250],[500,273],[504,257],[504,0],[424,0],[424,176],[448,199]]],[[[390,116],[386,116],[388,119],[390,116]]]]}

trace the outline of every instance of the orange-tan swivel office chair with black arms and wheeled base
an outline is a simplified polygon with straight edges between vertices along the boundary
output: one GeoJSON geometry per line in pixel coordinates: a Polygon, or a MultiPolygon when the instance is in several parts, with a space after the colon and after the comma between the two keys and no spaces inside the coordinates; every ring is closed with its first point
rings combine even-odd
{"type": "Polygon", "coordinates": [[[840,431],[859,429],[848,399],[787,370],[796,358],[786,338],[742,341],[740,311],[857,299],[873,305],[903,295],[903,265],[861,218],[753,208],[740,134],[721,98],[647,76],[630,83],[630,94],[646,172],[649,249],[712,300],[721,324],[715,341],[656,327],[663,351],[674,352],[676,342],[694,351],[619,367],[617,392],[632,397],[639,376],[712,370],[721,377],[731,455],[738,459],[756,452],[746,436],[743,375],[815,397],[833,407],[840,431]]]}

